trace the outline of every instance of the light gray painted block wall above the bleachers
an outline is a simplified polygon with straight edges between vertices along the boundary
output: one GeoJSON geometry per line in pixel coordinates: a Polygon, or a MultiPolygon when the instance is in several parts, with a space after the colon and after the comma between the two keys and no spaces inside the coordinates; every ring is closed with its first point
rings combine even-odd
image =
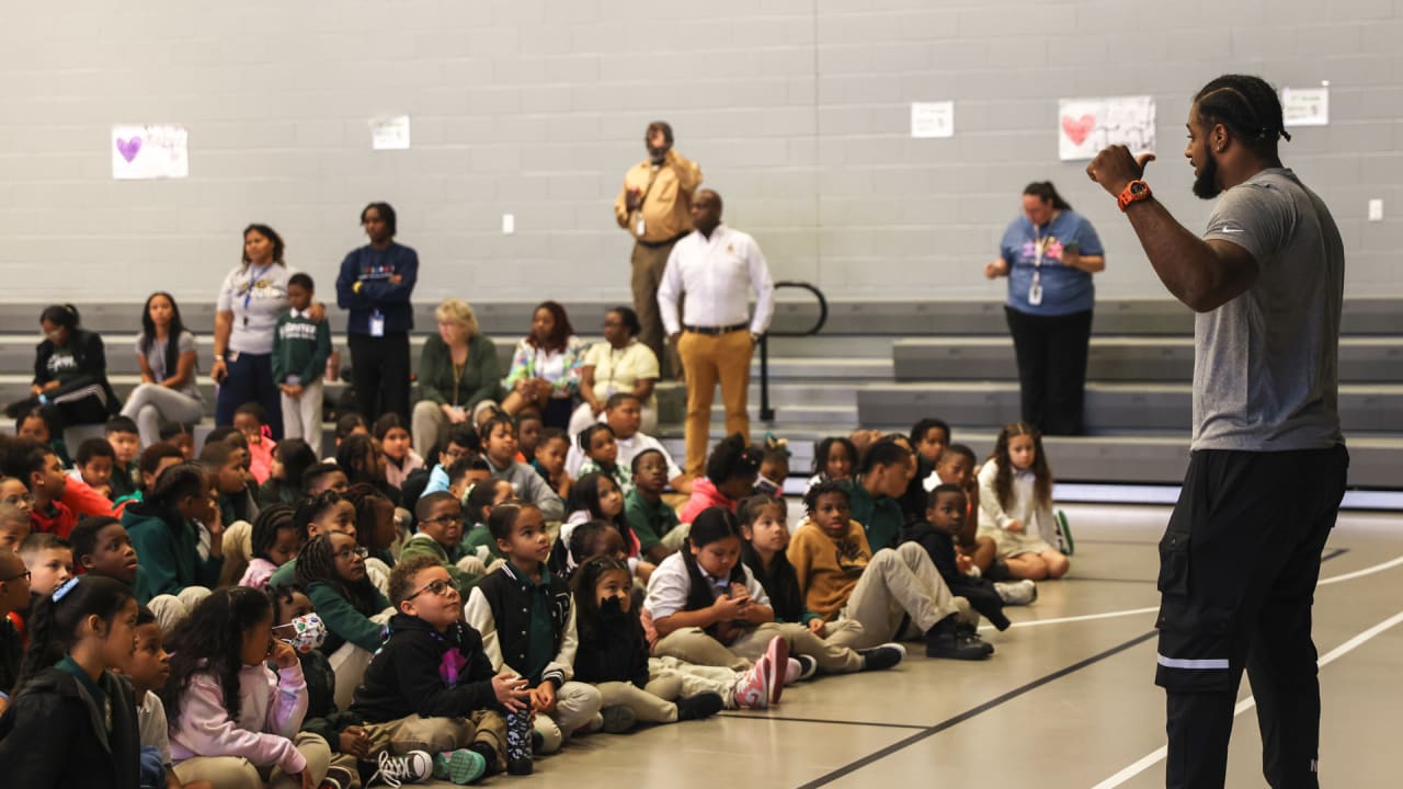
{"type": "Polygon", "coordinates": [[[324,279],[389,199],[419,296],[627,292],[612,201],[643,128],[678,149],[777,277],[835,298],[998,298],[979,268],[1030,180],[1108,247],[1107,296],[1162,296],[1114,204],[1056,160],[1059,97],[1157,98],[1156,192],[1207,205],[1181,159],[1190,97],[1225,72],[1330,80],[1333,125],[1284,157],[1331,204],[1351,293],[1400,293],[1403,0],[67,0],[0,25],[0,274],[8,299],[209,298],[269,222],[324,279]],[[957,136],[909,138],[911,101],[957,136]],[[368,119],[414,147],[369,150],[368,119]],[[111,180],[108,128],[189,129],[191,178],[111,180]],[[1367,223],[1369,198],[1385,220],[1367,223]],[[504,236],[501,215],[516,216],[504,236]],[[542,286],[540,282],[549,282],[542,286]]]}

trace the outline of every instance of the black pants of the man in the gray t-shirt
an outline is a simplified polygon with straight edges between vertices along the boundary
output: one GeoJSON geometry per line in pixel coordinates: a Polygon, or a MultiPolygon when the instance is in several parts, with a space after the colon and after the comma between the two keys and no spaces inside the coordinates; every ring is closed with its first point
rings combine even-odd
{"type": "Polygon", "coordinates": [[[1169,786],[1223,785],[1244,668],[1267,782],[1319,786],[1310,602],[1348,466],[1343,445],[1191,455],[1159,543],[1155,682],[1169,694],[1169,786]]]}

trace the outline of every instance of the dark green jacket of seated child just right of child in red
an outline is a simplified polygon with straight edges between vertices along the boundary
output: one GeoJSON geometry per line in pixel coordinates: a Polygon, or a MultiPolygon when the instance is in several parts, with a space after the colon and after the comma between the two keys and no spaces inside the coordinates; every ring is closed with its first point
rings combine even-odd
{"type": "Polygon", "coordinates": [[[195,524],[180,514],[146,503],[122,511],[122,525],[136,548],[136,601],[145,605],[160,594],[180,594],[187,587],[219,585],[223,557],[199,557],[195,524]]]}

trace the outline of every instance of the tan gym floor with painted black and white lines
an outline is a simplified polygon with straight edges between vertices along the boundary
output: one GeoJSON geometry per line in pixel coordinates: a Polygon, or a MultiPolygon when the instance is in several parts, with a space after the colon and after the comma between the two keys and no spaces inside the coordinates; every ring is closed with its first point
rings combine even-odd
{"type": "MultiPolygon", "coordinates": [[[[530,783],[1163,786],[1153,622],[1169,508],[1066,512],[1078,539],[1070,577],[1010,608],[1007,632],[985,632],[998,647],[989,661],[929,660],[909,644],[892,671],[800,684],[770,710],[578,738],[539,760],[530,783]]],[[[1403,517],[1341,514],[1324,559],[1315,608],[1322,782],[1396,786],[1388,776],[1403,729],[1403,517]]],[[[1244,679],[1242,698],[1250,692],[1244,679]]],[[[1237,709],[1228,785],[1263,786],[1256,715],[1237,709]]]]}

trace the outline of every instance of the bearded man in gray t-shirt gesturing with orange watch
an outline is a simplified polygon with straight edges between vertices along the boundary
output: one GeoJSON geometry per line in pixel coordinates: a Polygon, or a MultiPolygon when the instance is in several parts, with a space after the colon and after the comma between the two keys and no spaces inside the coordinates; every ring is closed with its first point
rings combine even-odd
{"type": "Polygon", "coordinates": [[[1153,154],[1086,168],[1117,195],[1164,286],[1197,314],[1194,438],[1160,541],[1159,656],[1167,785],[1222,786],[1242,672],[1273,786],[1317,786],[1320,685],[1310,602],[1344,496],[1337,358],[1344,244],[1282,167],[1281,102],[1258,77],[1208,83],[1188,112],[1202,237],[1142,180],[1153,154]]]}

